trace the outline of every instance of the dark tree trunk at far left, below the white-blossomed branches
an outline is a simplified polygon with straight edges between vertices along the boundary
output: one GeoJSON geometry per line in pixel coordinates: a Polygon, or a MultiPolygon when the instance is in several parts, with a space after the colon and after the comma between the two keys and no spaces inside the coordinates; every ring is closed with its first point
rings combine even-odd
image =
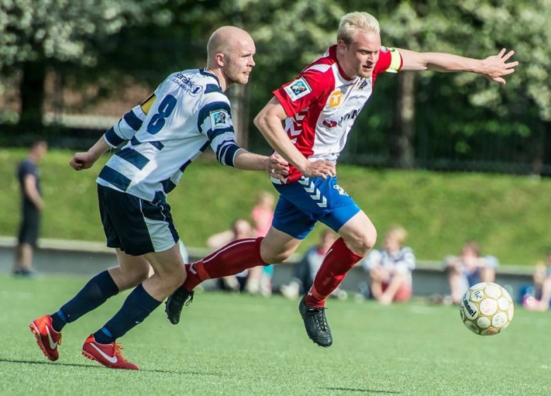
{"type": "Polygon", "coordinates": [[[42,127],[42,103],[46,67],[43,60],[23,63],[21,94],[21,116],[19,126],[24,132],[34,133],[42,127]]]}

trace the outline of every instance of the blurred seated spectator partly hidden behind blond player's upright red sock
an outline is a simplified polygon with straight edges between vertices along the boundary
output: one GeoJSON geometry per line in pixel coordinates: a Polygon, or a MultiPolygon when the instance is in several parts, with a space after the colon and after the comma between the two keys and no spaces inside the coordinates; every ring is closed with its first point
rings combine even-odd
{"type": "MultiPolygon", "coordinates": [[[[299,295],[310,290],[315,274],[322,266],[325,253],[331,248],[335,240],[337,240],[337,235],[331,229],[322,231],[318,244],[308,249],[302,260],[296,265],[291,281],[281,286],[280,291],[284,297],[295,300],[299,295]]],[[[346,291],[337,288],[331,295],[344,299],[346,298],[346,291]]]]}

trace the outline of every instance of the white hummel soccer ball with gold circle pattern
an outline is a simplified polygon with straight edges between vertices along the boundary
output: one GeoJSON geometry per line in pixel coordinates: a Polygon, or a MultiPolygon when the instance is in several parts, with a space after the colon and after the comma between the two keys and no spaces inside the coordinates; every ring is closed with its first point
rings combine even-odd
{"type": "Polygon", "coordinates": [[[463,295],[459,313],[472,333],[494,335],[509,326],[514,306],[506,289],[496,283],[481,282],[470,286],[463,295]]]}

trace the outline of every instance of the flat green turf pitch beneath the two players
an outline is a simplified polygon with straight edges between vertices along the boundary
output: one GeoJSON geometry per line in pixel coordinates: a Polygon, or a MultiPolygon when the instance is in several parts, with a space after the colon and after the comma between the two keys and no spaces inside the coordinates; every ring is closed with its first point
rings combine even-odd
{"type": "Polygon", "coordinates": [[[481,337],[457,307],[329,302],[335,342],[313,344],[296,302],[199,293],[172,326],[163,309],[125,335],[141,371],[103,368],[81,345],[123,296],[65,327],[60,359],[43,357],[28,329],[84,278],[0,275],[2,395],[548,395],[551,317],[517,309],[502,334],[481,337]]]}

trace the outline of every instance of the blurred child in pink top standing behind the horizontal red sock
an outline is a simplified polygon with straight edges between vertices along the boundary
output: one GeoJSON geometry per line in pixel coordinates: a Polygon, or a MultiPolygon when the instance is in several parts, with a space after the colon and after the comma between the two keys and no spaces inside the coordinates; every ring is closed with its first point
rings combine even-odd
{"type": "MultiPolygon", "coordinates": [[[[275,198],[267,191],[261,191],[256,199],[256,204],[251,210],[253,219],[253,231],[255,238],[266,236],[273,218],[273,205],[275,198]]],[[[264,296],[271,295],[271,277],[273,275],[273,264],[258,266],[249,269],[247,280],[247,291],[249,293],[260,293],[264,296]]]]}

